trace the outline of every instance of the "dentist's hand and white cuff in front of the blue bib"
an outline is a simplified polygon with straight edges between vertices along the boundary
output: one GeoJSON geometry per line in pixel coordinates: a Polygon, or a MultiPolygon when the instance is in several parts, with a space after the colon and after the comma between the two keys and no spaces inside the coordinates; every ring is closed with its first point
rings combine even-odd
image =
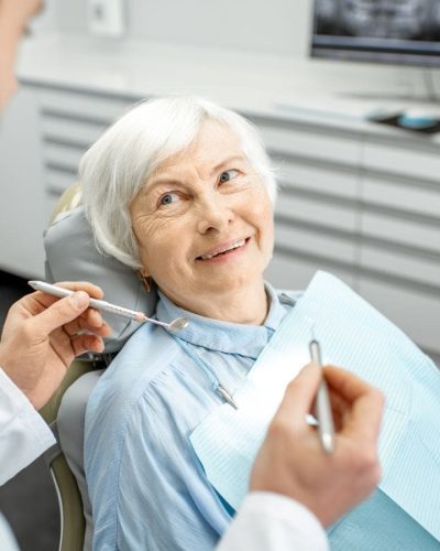
{"type": "Polygon", "coordinates": [[[327,455],[306,423],[320,380],[308,365],[286,390],[254,463],[250,494],[218,551],[323,551],[323,527],[365,499],[381,474],[377,439],[382,393],[354,375],[324,368],[336,421],[327,455]]]}

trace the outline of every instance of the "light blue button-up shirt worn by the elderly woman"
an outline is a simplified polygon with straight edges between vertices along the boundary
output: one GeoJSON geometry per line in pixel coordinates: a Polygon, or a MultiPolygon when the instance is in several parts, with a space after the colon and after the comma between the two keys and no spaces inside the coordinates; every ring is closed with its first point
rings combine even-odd
{"type": "Polygon", "coordinates": [[[145,324],[101,377],[86,415],[94,549],[215,548],[233,511],[209,484],[189,434],[223,403],[212,380],[233,396],[288,312],[270,285],[266,292],[270,311],[261,326],[202,317],[160,294],[158,320],[185,315],[190,322],[178,333],[182,341],[170,343],[169,358],[162,350],[160,368],[148,370],[148,359],[158,364],[153,345],[163,329],[145,324]]]}

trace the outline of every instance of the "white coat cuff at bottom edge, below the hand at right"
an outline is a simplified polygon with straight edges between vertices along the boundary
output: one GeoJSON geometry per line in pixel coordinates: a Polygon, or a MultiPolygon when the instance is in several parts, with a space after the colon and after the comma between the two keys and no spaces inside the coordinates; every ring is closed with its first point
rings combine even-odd
{"type": "Polygon", "coordinates": [[[221,539],[217,551],[329,551],[326,532],[306,507],[277,494],[255,491],[221,539]]]}

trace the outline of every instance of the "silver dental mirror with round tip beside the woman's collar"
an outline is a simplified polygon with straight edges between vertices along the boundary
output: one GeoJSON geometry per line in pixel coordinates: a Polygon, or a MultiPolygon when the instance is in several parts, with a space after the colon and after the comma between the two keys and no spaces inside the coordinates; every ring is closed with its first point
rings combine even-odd
{"type": "MultiPolygon", "coordinates": [[[[62,287],[52,285],[51,283],[45,283],[44,281],[28,281],[28,284],[32,287],[32,289],[35,289],[35,291],[42,291],[43,293],[59,296],[61,299],[70,296],[75,292],[62,287]]],[[[98,299],[90,299],[90,306],[102,312],[119,315],[120,317],[134,320],[135,322],[151,322],[155,325],[162,325],[173,332],[183,329],[188,325],[187,317],[176,317],[176,320],[173,320],[170,323],[160,322],[158,320],[147,317],[142,312],[135,312],[134,310],[124,309],[122,306],[118,306],[117,304],[111,304],[110,302],[100,301],[98,299]]]]}

